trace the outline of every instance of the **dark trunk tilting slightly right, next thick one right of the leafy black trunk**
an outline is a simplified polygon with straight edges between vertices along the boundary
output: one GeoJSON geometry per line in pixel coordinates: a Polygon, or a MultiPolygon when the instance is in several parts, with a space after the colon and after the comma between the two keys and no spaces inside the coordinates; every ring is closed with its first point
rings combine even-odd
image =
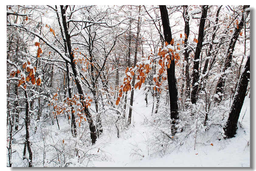
{"type": "Polygon", "coordinates": [[[191,91],[191,103],[195,104],[198,100],[197,90],[199,87],[199,57],[202,50],[202,42],[204,38],[204,26],[205,20],[207,16],[208,5],[202,6],[202,16],[200,18],[199,31],[198,31],[198,43],[195,49],[195,57],[194,57],[194,67],[193,67],[193,81],[192,81],[192,91],[191,91]],[[196,84],[197,83],[197,84],[196,84]]]}

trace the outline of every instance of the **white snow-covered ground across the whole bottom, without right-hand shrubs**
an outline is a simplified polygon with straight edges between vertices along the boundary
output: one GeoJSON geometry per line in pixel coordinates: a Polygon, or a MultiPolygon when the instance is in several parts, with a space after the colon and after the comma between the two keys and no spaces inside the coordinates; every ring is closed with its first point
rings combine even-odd
{"type": "MultiPolygon", "coordinates": [[[[64,120],[64,117],[59,120],[60,130],[58,130],[57,124],[48,124],[38,128],[38,135],[30,137],[34,155],[33,165],[37,167],[58,166],[53,163],[52,159],[61,157],[58,154],[58,150],[60,150],[66,154],[64,163],[71,163],[68,165],[69,167],[250,167],[250,99],[248,97],[245,98],[240,113],[238,125],[242,122],[242,126],[238,127],[236,137],[218,140],[218,138],[211,138],[214,133],[209,132],[206,133],[207,135],[198,135],[196,145],[195,136],[191,135],[182,145],[178,141],[176,144],[173,143],[174,145],[169,145],[175,141],[171,141],[169,138],[167,138],[167,145],[156,145],[157,142],[161,142],[157,141],[161,138],[161,133],[156,134],[158,128],[150,124],[157,117],[155,114],[151,115],[152,98],[148,98],[149,105],[146,107],[143,90],[135,90],[134,95],[130,127],[121,130],[120,137],[117,138],[115,125],[105,124],[103,134],[97,139],[95,145],[91,147],[81,147],[80,145],[78,147],[78,150],[86,151],[88,155],[83,161],[78,157],[68,157],[68,155],[74,156],[74,148],[77,146],[75,142],[81,142],[81,139],[72,137],[70,124],[66,119],[64,120]],[[112,128],[107,127],[109,125],[112,128]],[[44,141],[42,137],[44,137],[44,141]],[[206,141],[206,139],[210,141],[206,141]],[[42,151],[45,153],[45,159],[43,159],[42,151]]],[[[161,111],[161,106],[159,110],[161,111]]],[[[114,123],[114,121],[112,122],[114,123]]],[[[78,128],[79,136],[85,137],[82,132],[88,132],[87,129],[78,128]]],[[[216,131],[215,128],[210,130],[216,131]]],[[[16,143],[14,143],[13,149],[18,151],[13,154],[15,167],[27,166],[26,160],[22,160],[24,134],[22,131],[15,135],[16,143]]],[[[89,138],[88,135],[86,137],[89,138]]],[[[89,144],[88,140],[86,141],[89,144]]],[[[81,154],[83,153],[79,151],[79,155],[81,154]]],[[[59,160],[55,159],[54,161],[59,160]]]]}

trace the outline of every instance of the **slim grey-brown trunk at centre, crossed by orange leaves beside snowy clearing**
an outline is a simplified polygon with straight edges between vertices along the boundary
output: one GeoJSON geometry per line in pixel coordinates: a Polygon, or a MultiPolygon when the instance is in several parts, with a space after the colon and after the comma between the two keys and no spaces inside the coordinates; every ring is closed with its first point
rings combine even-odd
{"type": "MultiPolygon", "coordinates": [[[[140,6],[139,6],[139,14],[140,14],[140,6]]],[[[134,54],[134,67],[136,67],[137,64],[137,49],[139,44],[139,33],[140,33],[140,16],[138,17],[138,24],[137,24],[137,36],[136,36],[136,45],[135,45],[135,54],[134,54]]],[[[133,75],[133,81],[132,81],[132,87],[134,87],[135,84],[135,75],[133,75]]],[[[134,88],[132,88],[131,92],[131,100],[130,100],[130,109],[129,109],[129,115],[128,115],[128,125],[131,124],[132,119],[132,106],[133,106],[133,95],[134,95],[134,88]]]]}

